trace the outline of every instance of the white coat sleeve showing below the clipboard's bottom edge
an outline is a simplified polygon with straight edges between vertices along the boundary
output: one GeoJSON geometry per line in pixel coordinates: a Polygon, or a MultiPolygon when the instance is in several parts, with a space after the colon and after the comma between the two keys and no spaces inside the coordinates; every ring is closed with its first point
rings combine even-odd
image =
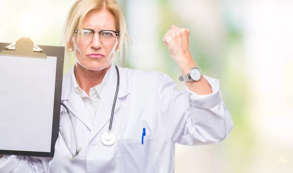
{"type": "Polygon", "coordinates": [[[40,160],[30,156],[11,155],[0,163],[0,173],[49,173],[44,169],[47,168],[49,159],[40,160]]]}

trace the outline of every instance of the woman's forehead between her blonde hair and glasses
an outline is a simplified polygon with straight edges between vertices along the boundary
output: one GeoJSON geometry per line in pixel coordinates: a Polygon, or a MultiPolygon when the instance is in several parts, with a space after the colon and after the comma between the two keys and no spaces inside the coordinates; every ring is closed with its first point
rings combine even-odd
{"type": "Polygon", "coordinates": [[[108,10],[88,13],[83,21],[83,28],[94,30],[115,30],[115,18],[108,10]]]}

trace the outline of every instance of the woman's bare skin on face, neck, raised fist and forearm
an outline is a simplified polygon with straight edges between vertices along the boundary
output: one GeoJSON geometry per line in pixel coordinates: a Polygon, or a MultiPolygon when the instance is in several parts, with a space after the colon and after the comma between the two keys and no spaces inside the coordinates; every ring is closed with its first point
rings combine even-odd
{"type": "MultiPolygon", "coordinates": [[[[84,28],[93,30],[113,30],[115,31],[114,16],[107,10],[92,12],[86,16],[83,22],[84,28]]],[[[191,57],[189,51],[189,35],[187,28],[178,28],[175,25],[164,35],[163,41],[167,46],[171,58],[178,64],[183,75],[187,75],[191,67],[197,67],[197,64],[191,57]]],[[[118,40],[117,40],[118,42],[118,40]]],[[[111,52],[117,50],[117,42],[113,45],[101,43],[99,35],[96,33],[92,42],[81,44],[77,38],[73,38],[73,50],[77,59],[76,80],[88,95],[89,89],[100,84],[105,77],[105,73],[110,68],[113,55],[111,52]],[[104,58],[93,59],[87,55],[92,53],[104,54],[104,58]]],[[[211,87],[204,76],[197,82],[185,82],[188,89],[198,95],[211,94],[211,87]]],[[[2,155],[0,155],[0,158],[2,155]]]]}

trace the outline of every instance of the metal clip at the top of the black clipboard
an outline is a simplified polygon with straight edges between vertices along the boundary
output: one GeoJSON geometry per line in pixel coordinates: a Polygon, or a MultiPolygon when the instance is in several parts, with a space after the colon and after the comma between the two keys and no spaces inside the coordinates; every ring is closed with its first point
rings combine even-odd
{"type": "Polygon", "coordinates": [[[30,38],[21,38],[10,44],[0,52],[0,55],[26,58],[47,58],[47,55],[42,53],[42,49],[35,45],[30,38]]]}

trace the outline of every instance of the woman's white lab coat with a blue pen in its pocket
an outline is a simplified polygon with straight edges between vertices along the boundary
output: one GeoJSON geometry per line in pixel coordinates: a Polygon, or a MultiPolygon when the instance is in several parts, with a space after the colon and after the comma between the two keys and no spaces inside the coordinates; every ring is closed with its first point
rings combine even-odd
{"type": "MultiPolygon", "coordinates": [[[[0,166],[0,173],[173,173],[175,143],[211,144],[229,135],[233,122],[223,103],[217,79],[205,76],[213,93],[199,96],[188,88],[178,92],[176,83],[159,72],[121,67],[119,71],[120,88],[112,124],[112,132],[116,135],[113,146],[104,146],[100,139],[108,131],[116,90],[114,65],[110,68],[93,123],[74,89],[71,71],[63,77],[62,101],[71,112],[81,153],[70,160],[71,154],[59,135],[53,159],[12,155],[0,166]],[[143,128],[146,128],[144,144],[143,128]]],[[[61,116],[60,125],[75,153],[74,135],[67,115],[61,116]]]]}

